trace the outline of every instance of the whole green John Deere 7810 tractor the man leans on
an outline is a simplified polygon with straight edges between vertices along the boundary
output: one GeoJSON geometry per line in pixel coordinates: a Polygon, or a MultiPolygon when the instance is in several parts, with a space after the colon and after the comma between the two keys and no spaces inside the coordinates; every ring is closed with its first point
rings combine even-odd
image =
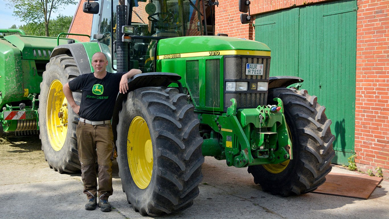
{"type": "MultiPolygon", "coordinates": [[[[301,78],[269,76],[265,44],[215,36],[217,4],[85,2],[84,12],[94,14],[91,42],[57,46],[40,86],[40,138],[49,165],[60,172],[80,168],[78,116],[61,89],[91,72],[92,55],[102,51],[107,71],[143,72],[129,80],[128,94],[118,95],[112,118],[123,191],[141,215],[190,207],[204,156],[248,167],[272,194],[308,193],[324,183],[334,156],[326,108],[306,90],[287,88],[301,78]]],[[[74,97],[79,102],[81,91],[74,97]]]]}

